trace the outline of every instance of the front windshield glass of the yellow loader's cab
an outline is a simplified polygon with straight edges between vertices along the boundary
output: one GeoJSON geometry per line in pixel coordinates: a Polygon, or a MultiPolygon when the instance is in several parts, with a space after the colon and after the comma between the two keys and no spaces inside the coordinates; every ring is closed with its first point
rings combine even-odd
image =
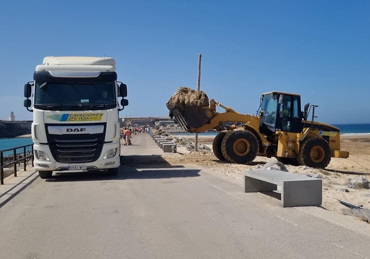
{"type": "Polygon", "coordinates": [[[260,119],[261,125],[272,132],[275,132],[277,99],[278,95],[265,94],[261,104],[261,111],[264,112],[260,119]]]}

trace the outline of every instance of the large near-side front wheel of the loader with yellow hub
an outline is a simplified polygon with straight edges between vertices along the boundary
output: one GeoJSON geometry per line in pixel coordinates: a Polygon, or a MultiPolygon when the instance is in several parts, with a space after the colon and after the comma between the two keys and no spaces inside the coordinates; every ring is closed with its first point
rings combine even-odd
{"type": "Polygon", "coordinates": [[[256,158],[259,144],[249,130],[231,130],[223,137],[221,148],[226,161],[248,164],[256,158]]]}

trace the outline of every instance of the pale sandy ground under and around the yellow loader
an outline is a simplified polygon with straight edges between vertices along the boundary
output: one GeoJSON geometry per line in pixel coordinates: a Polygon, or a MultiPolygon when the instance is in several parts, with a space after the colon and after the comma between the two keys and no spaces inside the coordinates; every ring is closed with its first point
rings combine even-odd
{"type": "MultiPolygon", "coordinates": [[[[199,136],[199,143],[212,148],[215,136],[199,136]]],[[[193,140],[194,136],[179,136],[179,138],[193,140]]],[[[370,190],[352,189],[345,186],[347,178],[357,179],[365,177],[370,180],[370,135],[342,135],[341,150],[349,151],[347,159],[332,158],[326,169],[313,169],[303,166],[286,165],[291,173],[309,174],[323,179],[323,204],[322,207],[342,213],[344,208],[336,199],[344,200],[354,205],[363,205],[370,208],[370,190]],[[340,189],[347,189],[344,192],[340,189]]],[[[231,176],[236,180],[243,180],[243,171],[255,169],[256,165],[263,165],[275,158],[256,157],[252,165],[230,164],[218,160],[213,152],[201,151],[190,153],[185,147],[178,147],[182,156],[171,157],[173,164],[198,165],[220,174],[231,176]]],[[[167,158],[166,158],[167,159],[167,158]]]]}

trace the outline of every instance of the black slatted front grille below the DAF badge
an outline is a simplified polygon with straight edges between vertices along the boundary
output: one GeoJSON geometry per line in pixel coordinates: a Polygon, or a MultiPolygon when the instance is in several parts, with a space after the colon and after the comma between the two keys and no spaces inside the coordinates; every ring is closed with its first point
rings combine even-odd
{"type": "Polygon", "coordinates": [[[104,145],[104,132],[99,134],[47,133],[48,144],[55,161],[59,163],[89,163],[96,161],[104,145]]]}

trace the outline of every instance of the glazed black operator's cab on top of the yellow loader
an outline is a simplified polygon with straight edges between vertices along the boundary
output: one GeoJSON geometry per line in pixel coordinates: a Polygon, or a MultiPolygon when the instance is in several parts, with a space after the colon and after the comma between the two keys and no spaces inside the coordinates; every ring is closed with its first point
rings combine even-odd
{"type": "Polygon", "coordinates": [[[302,112],[300,95],[283,92],[262,94],[260,131],[272,135],[276,130],[302,132],[302,112]]]}

